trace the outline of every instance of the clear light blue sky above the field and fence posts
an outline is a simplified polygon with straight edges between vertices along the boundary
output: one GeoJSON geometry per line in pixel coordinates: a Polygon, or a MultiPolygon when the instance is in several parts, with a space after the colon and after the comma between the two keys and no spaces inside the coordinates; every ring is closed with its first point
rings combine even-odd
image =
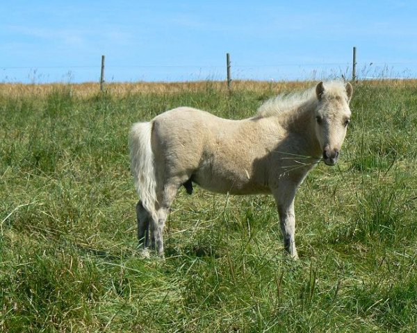
{"type": "Polygon", "coordinates": [[[417,1],[0,2],[0,83],[417,77],[417,1]]]}

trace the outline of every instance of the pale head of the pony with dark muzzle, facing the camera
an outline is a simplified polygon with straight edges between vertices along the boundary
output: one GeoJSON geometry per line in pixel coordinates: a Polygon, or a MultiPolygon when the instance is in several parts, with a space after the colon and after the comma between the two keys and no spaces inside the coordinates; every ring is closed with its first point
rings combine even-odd
{"type": "Polygon", "coordinates": [[[349,102],[353,88],[350,83],[318,83],[318,99],[315,117],[316,137],[325,164],[334,165],[345,139],[350,121],[349,102]]]}

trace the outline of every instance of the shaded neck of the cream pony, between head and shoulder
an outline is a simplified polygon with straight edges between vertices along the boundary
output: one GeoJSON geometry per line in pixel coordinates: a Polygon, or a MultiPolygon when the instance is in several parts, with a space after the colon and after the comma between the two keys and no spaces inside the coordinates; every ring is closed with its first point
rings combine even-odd
{"type": "Polygon", "coordinates": [[[316,137],[316,113],[314,110],[317,108],[316,100],[306,101],[298,108],[288,111],[284,124],[286,129],[304,139],[303,151],[300,151],[301,155],[320,158],[322,150],[320,143],[316,137]]]}

